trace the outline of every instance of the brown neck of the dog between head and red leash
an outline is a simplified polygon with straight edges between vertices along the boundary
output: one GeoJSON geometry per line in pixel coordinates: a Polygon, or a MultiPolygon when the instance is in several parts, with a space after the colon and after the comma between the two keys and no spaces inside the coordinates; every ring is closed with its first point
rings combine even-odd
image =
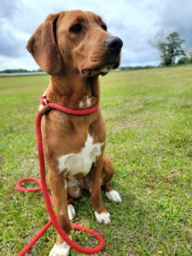
{"type": "Polygon", "coordinates": [[[51,76],[47,96],[50,102],[67,108],[90,108],[100,99],[98,76],[84,77],[77,74],[51,76]]]}

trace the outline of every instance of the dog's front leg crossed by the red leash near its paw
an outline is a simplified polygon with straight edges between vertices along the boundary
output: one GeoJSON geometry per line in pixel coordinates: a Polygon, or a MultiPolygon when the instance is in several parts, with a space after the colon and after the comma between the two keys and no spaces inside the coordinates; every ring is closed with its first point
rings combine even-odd
{"type": "MultiPolygon", "coordinates": [[[[55,205],[56,217],[63,230],[70,236],[71,225],[67,212],[67,179],[65,173],[57,173],[49,170],[49,184],[55,205]]],[[[66,241],[63,241],[61,236],[58,236],[49,256],[67,256],[69,250],[70,247],[66,241]]]]}

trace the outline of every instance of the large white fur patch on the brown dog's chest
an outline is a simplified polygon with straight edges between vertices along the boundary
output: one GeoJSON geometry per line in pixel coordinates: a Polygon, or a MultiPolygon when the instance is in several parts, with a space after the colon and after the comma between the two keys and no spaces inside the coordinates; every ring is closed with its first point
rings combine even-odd
{"type": "Polygon", "coordinates": [[[64,154],[58,158],[59,172],[67,170],[67,177],[81,173],[84,176],[90,172],[90,167],[96,158],[102,154],[104,143],[93,143],[93,137],[88,135],[84,148],[76,154],[64,154]]]}

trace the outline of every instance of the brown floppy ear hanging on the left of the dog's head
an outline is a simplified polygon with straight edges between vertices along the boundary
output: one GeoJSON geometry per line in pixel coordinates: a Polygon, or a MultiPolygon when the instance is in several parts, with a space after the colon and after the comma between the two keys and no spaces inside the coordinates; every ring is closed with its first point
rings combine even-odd
{"type": "Polygon", "coordinates": [[[51,75],[61,72],[61,55],[55,38],[58,17],[59,14],[48,15],[26,44],[26,49],[32,54],[41,69],[51,75]]]}

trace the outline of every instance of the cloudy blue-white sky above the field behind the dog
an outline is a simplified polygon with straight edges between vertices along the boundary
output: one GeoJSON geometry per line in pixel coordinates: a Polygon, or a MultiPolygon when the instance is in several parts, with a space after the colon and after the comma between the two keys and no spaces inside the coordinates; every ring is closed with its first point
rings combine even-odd
{"type": "Polygon", "coordinates": [[[47,15],[71,9],[102,16],[108,32],[124,42],[122,67],[158,65],[159,54],[150,42],[162,32],[192,38],[192,0],[1,0],[0,70],[38,69],[26,50],[28,38],[47,15]]]}

